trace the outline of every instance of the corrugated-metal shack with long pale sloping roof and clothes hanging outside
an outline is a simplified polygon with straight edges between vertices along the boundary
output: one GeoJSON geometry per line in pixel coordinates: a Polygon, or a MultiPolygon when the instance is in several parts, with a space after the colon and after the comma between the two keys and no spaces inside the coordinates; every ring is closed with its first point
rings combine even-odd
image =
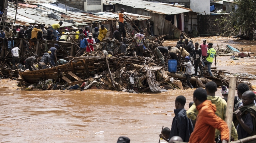
{"type": "MultiPolygon", "coordinates": [[[[121,1],[105,0],[104,8],[114,7],[115,11],[120,11],[121,1]],[[115,5],[115,6],[109,6],[115,5]]],[[[184,8],[184,5],[166,4],[160,2],[137,1],[137,0],[122,0],[122,8],[125,12],[151,16],[150,30],[151,35],[173,35],[170,38],[179,38],[176,27],[188,33],[193,29],[197,30],[197,14],[189,8],[184,8]]]]}

